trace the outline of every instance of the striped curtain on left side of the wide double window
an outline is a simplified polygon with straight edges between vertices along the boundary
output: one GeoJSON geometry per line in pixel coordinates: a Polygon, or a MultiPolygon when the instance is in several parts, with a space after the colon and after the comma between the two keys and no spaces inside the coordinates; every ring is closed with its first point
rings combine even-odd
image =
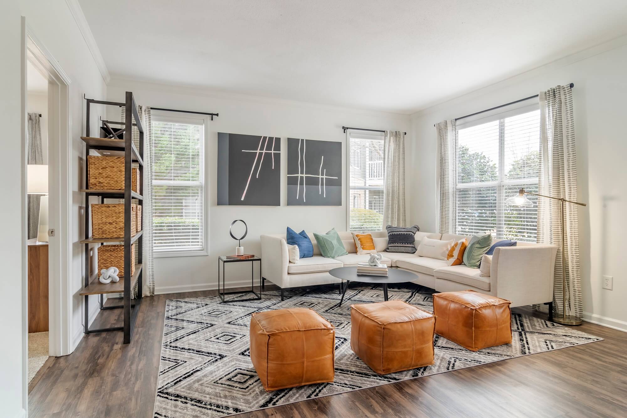
{"type": "Polygon", "coordinates": [[[457,127],[455,119],[435,124],[438,135],[436,207],[438,232],[457,233],[457,127]]]}

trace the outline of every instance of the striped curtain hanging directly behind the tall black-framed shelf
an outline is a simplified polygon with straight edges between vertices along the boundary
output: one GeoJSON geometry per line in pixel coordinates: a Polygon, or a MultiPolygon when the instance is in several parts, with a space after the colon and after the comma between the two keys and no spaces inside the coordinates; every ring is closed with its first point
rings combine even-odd
{"type": "MultiPolygon", "coordinates": [[[[126,109],[122,107],[122,122],[125,121],[125,110],[126,109]]],[[[144,287],[142,289],[142,295],[154,296],[155,273],[152,251],[152,244],[154,242],[154,232],[152,230],[152,213],[154,208],[152,186],[154,176],[152,174],[152,168],[154,166],[154,154],[152,152],[152,115],[150,113],[150,107],[142,105],[137,105],[137,113],[142,121],[142,127],[144,127],[144,178],[141,180],[144,182],[144,206],[142,207],[142,228],[144,228],[144,234],[142,235],[142,239],[144,240],[144,266],[142,267],[142,275],[144,287]]],[[[135,147],[139,149],[139,131],[136,127],[133,127],[132,141],[135,147]]],[[[124,203],[124,200],[122,200],[122,203],[124,203]]],[[[135,291],[133,294],[133,296],[135,296],[135,291]]]]}

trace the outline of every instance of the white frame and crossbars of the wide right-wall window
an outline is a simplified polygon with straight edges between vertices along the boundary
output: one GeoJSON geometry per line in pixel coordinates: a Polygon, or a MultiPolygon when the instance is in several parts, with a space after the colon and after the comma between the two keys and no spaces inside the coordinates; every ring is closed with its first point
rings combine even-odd
{"type": "MultiPolygon", "coordinates": [[[[487,124],[489,122],[498,121],[498,179],[493,181],[475,181],[473,183],[459,183],[459,174],[458,178],[455,179],[455,193],[457,194],[458,190],[463,189],[476,189],[476,188],[488,188],[494,187],[497,191],[496,196],[496,230],[495,237],[496,239],[508,239],[505,237],[505,200],[509,196],[505,196],[505,190],[508,186],[517,186],[518,188],[527,186],[538,186],[540,183],[539,173],[538,177],[527,177],[527,178],[518,178],[507,180],[505,178],[505,129],[504,122],[508,117],[522,115],[529,112],[534,112],[535,110],[540,109],[540,104],[537,102],[537,99],[528,99],[524,100],[515,105],[511,105],[506,107],[505,109],[498,109],[490,112],[488,114],[480,114],[475,117],[469,117],[466,121],[460,122],[456,124],[456,141],[458,141],[458,132],[462,129],[470,128],[473,126],[478,126],[482,124],[487,124]]],[[[539,138],[539,141],[541,139],[539,138]]],[[[539,143],[540,146],[540,143],[539,143]]],[[[459,142],[456,145],[455,149],[458,149],[459,142]]],[[[459,164],[458,162],[459,154],[455,155],[455,164],[459,164]]],[[[458,235],[464,235],[459,230],[460,219],[459,217],[459,205],[456,205],[455,208],[455,233],[458,235]]],[[[537,225],[537,220],[536,220],[537,225]]],[[[537,237],[537,226],[536,226],[536,237],[537,237]]],[[[531,241],[525,241],[531,242],[531,241]]]]}

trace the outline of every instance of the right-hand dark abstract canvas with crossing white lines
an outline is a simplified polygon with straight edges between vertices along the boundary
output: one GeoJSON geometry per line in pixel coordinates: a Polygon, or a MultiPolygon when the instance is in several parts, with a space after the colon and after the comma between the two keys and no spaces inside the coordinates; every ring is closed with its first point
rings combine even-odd
{"type": "Polygon", "coordinates": [[[342,205],[342,142],[287,139],[287,204],[342,205]]]}

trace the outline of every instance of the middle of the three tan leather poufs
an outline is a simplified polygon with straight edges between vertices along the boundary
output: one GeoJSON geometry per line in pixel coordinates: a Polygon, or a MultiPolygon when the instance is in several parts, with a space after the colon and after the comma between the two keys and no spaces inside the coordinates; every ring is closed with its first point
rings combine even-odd
{"type": "Polygon", "coordinates": [[[350,348],[380,375],[433,364],[435,316],[403,301],[350,305],[350,348]]]}

